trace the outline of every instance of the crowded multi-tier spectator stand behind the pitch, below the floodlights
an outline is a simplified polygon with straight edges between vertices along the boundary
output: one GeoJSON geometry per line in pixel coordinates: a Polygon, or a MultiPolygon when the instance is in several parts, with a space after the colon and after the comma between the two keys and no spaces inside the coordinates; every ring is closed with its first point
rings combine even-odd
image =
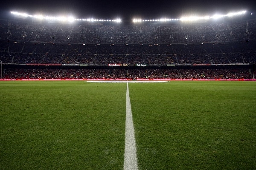
{"type": "Polygon", "coordinates": [[[256,19],[124,26],[0,20],[4,79],[252,79],[255,42],[256,19]]]}

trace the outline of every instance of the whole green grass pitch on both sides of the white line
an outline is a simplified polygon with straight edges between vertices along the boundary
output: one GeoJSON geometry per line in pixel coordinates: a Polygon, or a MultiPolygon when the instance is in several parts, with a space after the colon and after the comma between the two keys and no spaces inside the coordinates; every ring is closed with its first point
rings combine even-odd
{"type": "MultiPolygon", "coordinates": [[[[121,170],[126,83],[0,82],[0,170],[121,170]]],[[[140,170],[256,169],[256,82],[129,83],[140,170]]]]}

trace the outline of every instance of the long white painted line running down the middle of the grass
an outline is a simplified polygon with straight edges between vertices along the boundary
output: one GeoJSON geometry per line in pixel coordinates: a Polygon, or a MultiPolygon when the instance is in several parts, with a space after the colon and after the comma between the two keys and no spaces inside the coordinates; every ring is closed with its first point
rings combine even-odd
{"type": "Polygon", "coordinates": [[[126,120],[125,120],[125,161],[124,170],[138,170],[136,142],[134,135],[134,126],[131,113],[131,101],[129,95],[129,86],[126,88],[126,120]]]}

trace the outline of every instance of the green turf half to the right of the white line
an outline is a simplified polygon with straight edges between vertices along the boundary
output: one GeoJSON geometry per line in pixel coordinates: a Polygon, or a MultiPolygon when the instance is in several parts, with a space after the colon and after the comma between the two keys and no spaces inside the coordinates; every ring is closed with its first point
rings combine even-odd
{"type": "Polygon", "coordinates": [[[256,169],[255,82],[129,88],[141,169],[256,169]]]}

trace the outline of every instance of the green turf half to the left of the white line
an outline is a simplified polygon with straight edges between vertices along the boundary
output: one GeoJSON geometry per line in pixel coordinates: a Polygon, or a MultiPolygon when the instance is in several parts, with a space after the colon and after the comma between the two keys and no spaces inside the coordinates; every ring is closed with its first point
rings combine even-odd
{"type": "Polygon", "coordinates": [[[125,84],[0,83],[0,169],[122,169],[125,84]]]}

